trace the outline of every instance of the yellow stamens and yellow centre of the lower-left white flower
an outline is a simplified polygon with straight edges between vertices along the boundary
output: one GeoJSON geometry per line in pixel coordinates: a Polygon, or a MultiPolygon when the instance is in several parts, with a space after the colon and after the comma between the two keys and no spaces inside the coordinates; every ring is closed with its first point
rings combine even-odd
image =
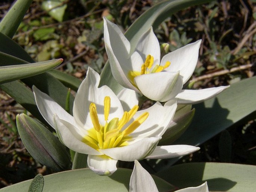
{"type": "Polygon", "coordinates": [[[88,130],[88,134],[84,136],[82,142],[96,150],[126,146],[127,140],[131,139],[129,134],[135,131],[136,128],[138,128],[148,118],[149,115],[148,112],[144,112],[127,128],[122,130],[124,125],[131,120],[138,109],[139,106],[135,105],[130,111],[124,111],[123,117],[121,119],[116,117],[108,121],[108,116],[110,114],[110,97],[106,96],[104,99],[105,125],[101,125],[99,122],[96,105],[95,103],[91,103],[89,111],[93,128],[88,130]]]}

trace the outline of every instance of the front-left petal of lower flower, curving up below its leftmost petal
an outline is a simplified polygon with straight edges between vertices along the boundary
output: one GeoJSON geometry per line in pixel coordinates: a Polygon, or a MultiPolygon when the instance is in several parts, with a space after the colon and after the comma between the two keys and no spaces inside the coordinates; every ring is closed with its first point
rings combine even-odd
{"type": "Polygon", "coordinates": [[[81,135],[81,130],[67,121],[60,120],[57,115],[55,115],[55,127],[61,142],[73,151],[82,154],[102,155],[101,152],[81,142],[83,136],[85,136],[85,134],[81,135]]]}

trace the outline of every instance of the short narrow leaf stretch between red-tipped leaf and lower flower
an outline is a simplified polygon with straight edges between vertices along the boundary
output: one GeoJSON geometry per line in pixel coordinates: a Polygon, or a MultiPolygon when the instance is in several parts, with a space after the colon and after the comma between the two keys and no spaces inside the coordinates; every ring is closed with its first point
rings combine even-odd
{"type": "Polygon", "coordinates": [[[74,91],[77,91],[78,87],[81,84],[81,80],[71,75],[68,75],[62,71],[53,69],[51,71],[48,71],[48,73],[51,74],[53,77],[57,78],[59,81],[61,81],[61,83],[63,83],[66,87],[74,91]]]}

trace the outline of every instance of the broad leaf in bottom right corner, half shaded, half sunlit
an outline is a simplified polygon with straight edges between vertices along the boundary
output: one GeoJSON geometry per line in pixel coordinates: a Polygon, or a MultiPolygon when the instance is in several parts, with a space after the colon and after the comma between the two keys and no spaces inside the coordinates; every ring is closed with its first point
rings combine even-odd
{"type": "Polygon", "coordinates": [[[198,186],[207,181],[209,191],[255,191],[256,166],[229,163],[186,163],[157,173],[178,188],[198,186]]]}

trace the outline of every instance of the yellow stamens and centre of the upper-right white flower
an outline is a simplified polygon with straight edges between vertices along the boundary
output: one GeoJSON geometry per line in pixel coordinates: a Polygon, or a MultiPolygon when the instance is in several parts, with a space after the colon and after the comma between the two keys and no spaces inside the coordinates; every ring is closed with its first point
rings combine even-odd
{"type": "Polygon", "coordinates": [[[152,65],[154,63],[154,57],[152,55],[148,55],[146,57],[146,61],[144,62],[144,64],[142,64],[141,66],[141,71],[129,71],[128,72],[128,78],[130,80],[130,82],[134,85],[134,78],[139,76],[139,75],[144,75],[144,74],[149,74],[149,73],[157,73],[157,72],[161,72],[164,69],[166,69],[167,67],[170,66],[171,62],[167,61],[164,66],[160,66],[160,65],[155,65],[153,69],[152,65]]]}

